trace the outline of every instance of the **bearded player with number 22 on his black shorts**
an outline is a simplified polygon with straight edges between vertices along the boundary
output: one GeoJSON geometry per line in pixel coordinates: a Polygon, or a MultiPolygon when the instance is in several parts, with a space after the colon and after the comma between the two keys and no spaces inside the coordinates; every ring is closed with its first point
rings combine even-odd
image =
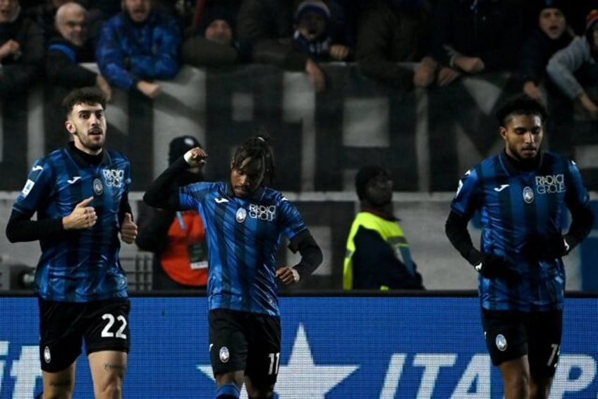
{"type": "Polygon", "coordinates": [[[130,343],[127,244],[137,226],[128,202],[130,164],[104,150],[106,101],[78,88],[64,101],[73,141],[36,160],[6,226],[10,242],[39,239],[35,270],[44,395],[71,398],[85,340],[96,398],[121,398],[130,343]],[[37,220],[31,220],[37,213],[37,220]]]}

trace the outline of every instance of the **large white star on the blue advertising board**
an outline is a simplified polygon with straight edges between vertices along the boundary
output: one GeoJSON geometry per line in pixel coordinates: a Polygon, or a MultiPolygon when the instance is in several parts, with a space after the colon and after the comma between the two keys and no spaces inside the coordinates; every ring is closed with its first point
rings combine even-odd
{"type": "MultiPolygon", "coordinates": [[[[279,399],[310,398],[324,399],[326,394],[346,379],[359,366],[322,366],[315,364],[310,344],[307,342],[305,328],[299,324],[291,357],[286,365],[279,368],[279,377],[274,386],[274,393],[279,399]]],[[[197,369],[212,381],[212,366],[200,364],[197,369]]],[[[214,388],[215,390],[215,388],[214,388]]],[[[241,399],[247,399],[245,387],[241,391],[241,399]]]]}

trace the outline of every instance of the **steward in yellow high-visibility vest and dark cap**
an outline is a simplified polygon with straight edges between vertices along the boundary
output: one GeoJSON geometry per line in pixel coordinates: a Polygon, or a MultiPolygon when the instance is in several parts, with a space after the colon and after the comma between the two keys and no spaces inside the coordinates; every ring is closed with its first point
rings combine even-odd
{"type": "Polygon", "coordinates": [[[367,165],[355,175],[360,212],[347,238],[344,290],[424,290],[405,234],[393,215],[393,181],[367,165]]]}

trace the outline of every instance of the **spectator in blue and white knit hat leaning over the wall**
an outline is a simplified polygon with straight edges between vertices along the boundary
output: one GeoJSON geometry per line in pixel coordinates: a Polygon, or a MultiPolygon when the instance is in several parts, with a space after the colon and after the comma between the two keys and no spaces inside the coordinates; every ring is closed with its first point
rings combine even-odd
{"type": "Polygon", "coordinates": [[[322,1],[302,1],[295,11],[293,42],[316,61],[343,61],[349,47],[334,44],[329,33],[330,10],[322,1]]]}

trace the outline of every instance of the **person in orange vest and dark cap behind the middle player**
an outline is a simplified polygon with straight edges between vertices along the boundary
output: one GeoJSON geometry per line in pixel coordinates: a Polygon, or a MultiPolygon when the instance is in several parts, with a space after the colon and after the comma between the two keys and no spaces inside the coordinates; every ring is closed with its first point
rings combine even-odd
{"type": "MultiPolygon", "coordinates": [[[[169,164],[191,148],[200,147],[193,136],[179,136],[169,145],[169,164]]],[[[185,170],[174,186],[203,181],[200,167],[185,170]]],[[[154,290],[197,290],[207,285],[207,251],[202,218],[195,210],[172,212],[142,206],[138,216],[139,249],[154,253],[154,290]]]]}

